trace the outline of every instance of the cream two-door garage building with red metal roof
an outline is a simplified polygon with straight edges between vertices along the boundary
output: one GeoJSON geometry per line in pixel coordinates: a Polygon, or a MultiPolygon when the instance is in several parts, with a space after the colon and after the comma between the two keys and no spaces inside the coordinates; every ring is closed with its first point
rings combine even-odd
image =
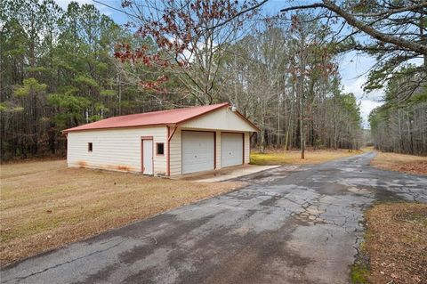
{"type": "Polygon", "coordinates": [[[249,163],[257,131],[221,103],[107,118],[63,133],[69,167],[179,175],[249,163]]]}

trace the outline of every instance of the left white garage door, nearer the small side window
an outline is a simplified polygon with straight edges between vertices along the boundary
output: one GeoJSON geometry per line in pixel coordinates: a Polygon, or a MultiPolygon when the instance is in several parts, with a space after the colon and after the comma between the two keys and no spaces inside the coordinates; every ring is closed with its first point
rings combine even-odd
{"type": "Polygon", "coordinates": [[[214,169],[214,133],[182,131],[182,174],[214,169]]]}

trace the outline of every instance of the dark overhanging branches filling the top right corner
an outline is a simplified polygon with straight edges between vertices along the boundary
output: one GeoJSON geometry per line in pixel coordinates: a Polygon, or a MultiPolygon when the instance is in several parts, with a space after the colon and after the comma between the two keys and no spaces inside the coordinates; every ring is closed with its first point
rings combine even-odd
{"type": "Polygon", "coordinates": [[[334,1],[323,0],[314,4],[291,5],[281,12],[307,9],[319,10],[318,18],[334,22],[334,25],[340,27],[336,31],[339,50],[352,50],[375,56],[376,64],[369,74],[366,91],[383,88],[392,74],[400,72],[408,62],[422,58],[423,64],[413,69],[405,69],[407,76],[416,81],[411,86],[411,92],[400,96],[400,100],[407,100],[419,85],[425,85],[426,1],[343,1],[336,4],[334,1]],[[369,38],[370,40],[367,40],[369,38]]]}

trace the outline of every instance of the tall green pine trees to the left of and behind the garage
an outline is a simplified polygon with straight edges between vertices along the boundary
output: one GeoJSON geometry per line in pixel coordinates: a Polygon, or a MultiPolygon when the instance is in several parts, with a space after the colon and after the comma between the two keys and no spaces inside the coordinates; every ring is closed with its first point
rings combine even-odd
{"type": "Polygon", "coordinates": [[[9,1],[1,12],[2,160],[64,155],[65,128],[159,108],[113,56],[132,34],[92,4],[9,1]]]}

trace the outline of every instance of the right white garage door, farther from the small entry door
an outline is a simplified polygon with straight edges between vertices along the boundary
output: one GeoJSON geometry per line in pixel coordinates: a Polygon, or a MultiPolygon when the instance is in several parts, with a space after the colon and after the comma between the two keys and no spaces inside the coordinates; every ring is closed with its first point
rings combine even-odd
{"type": "Polygon", "coordinates": [[[243,134],[221,134],[221,166],[243,164],[243,134]]]}

